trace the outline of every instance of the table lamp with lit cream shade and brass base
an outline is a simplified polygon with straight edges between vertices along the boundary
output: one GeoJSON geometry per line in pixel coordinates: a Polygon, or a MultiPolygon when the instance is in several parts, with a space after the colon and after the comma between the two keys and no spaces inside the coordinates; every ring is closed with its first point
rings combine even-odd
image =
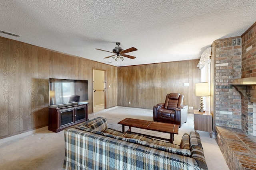
{"type": "Polygon", "coordinates": [[[208,82],[196,83],[196,96],[201,96],[201,109],[200,112],[205,112],[204,103],[203,103],[203,96],[210,96],[210,89],[208,82]]]}

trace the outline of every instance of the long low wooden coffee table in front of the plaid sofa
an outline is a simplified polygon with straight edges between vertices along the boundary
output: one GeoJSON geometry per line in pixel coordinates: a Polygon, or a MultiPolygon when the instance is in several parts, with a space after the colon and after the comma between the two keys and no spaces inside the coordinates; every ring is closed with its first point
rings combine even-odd
{"type": "MultiPolygon", "coordinates": [[[[174,140],[174,134],[177,134],[177,135],[179,134],[179,126],[180,126],[180,125],[175,125],[170,123],[162,123],[162,122],[147,121],[147,120],[132,119],[132,118],[125,118],[124,120],[118,122],[118,124],[122,125],[123,132],[124,132],[124,127],[129,126],[129,129],[126,132],[132,132],[132,127],[136,127],[136,128],[147,129],[151,131],[170,133],[170,139],[151,136],[151,135],[145,135],[145,136],[156,138],[156,139],[170,141],[170,143],[172,143],[174,140]]],[[[132,132],[132,133],[135,133],[135,132],[132,132]]],[[[141,133],[137,133],[137,134],[144,135],[141,133]]]]}

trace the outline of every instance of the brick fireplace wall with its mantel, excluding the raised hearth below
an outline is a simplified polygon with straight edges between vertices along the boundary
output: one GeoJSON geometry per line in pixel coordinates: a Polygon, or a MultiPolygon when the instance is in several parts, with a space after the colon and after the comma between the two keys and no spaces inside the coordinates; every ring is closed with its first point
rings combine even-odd
{"type": "Polygon", "coordinates": [[[215,68],[215,125],[256,136],[256,23],[215,41],[215,68]]]}

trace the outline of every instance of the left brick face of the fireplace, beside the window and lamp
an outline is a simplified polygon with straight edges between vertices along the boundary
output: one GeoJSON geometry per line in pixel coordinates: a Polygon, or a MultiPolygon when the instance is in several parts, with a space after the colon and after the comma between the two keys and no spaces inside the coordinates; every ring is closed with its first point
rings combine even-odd
{"type": "Polygon", "coordinates": [[[241,95],[228,84],[231,79],[241,78],[241,38],[216,40],[215,43],[215,125],[241,129],[241,95]]]}

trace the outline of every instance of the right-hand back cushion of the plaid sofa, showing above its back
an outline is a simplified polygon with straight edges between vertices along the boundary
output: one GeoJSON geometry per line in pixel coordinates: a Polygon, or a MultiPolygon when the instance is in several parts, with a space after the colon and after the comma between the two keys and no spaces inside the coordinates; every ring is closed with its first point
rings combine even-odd
{"type": "Polygon", "coordinates": [[[162,150],[162,151],[165,151],[165,152],[170,152],[170,153],[174,153],[174,154],[178,154],[178,155],[182,155],[182,156],[191,157],[191,151],[188,150],[188,149],[179,149],[179,148],[166,147],[166,146],[162,146],[162,145],[156,145],[156,144],[153,144],[153,143],[149,143],[149,142],[146,142],[146,141],[141,141],[140,144],[143,145],[143,146],[146,146],[146,147],[151,147],[151,148],[162,150]]]}

